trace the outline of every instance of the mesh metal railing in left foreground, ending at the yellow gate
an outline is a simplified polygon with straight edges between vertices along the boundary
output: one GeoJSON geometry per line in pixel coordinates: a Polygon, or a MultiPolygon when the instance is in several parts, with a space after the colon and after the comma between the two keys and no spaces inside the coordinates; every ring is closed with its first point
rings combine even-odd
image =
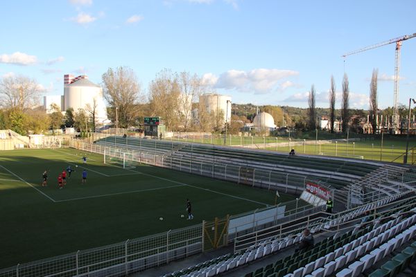
{"type": "Polygon", "coordinates": [[[121,276],[202,252],[202,224],[0,269],[1,277],[121,276]]]}

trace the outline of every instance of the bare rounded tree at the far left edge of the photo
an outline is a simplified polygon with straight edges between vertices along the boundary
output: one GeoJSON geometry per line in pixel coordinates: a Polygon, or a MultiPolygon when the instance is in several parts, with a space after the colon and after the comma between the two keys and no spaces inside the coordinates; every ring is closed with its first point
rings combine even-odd
{"type": "Polygon", "coordinates": [[[9,76],[0,81],[0,103],[10,109],[31,109],[39,101],[40,86],[24,75],[9,76]]]}

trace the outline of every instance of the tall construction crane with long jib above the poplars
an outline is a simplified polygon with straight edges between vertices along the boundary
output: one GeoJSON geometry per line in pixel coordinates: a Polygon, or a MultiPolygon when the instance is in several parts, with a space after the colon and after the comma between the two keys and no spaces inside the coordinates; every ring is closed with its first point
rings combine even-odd
{"type": "Polygon", "coordinates": [[[378,48],[381,46],[385,46],[387,44],[396,43],[396,61],[395,61],[395,106],[393,108],[393,123],[392,123],[392,132],[393,134],[397,134],[397,130],[399,129],[399,110],[397,108],[398,101],[399,101],[399,72],[400,72],[400,48],[401,48],[401,42],[404,42],[407,39],[411,39],[412,37],[416,37],[416,33],[412,35],[403,35],[401,37],[396,37],[395,39],[390,39],[386,42],[380,42],[379,44],[374,44],[372,46],[367,46],[361,49],[358,49],[356,51],[352,51],[349,53],[346,53],[342,55],[342,57],[345,59],[345,57],[349,55],[354,55],[357,53],[361,53],[367,50],[371,50],[374,48],[378,48]]]}

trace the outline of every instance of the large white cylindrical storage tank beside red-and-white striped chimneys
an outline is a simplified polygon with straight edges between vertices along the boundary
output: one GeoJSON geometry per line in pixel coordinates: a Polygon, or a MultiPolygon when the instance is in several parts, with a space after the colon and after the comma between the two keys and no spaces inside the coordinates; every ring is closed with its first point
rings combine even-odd
{"type": "MultiPolygon", "coordinates": [[[[79,76],[78,76],[79,77],[79,76]]],[[[107,111],[105,108],[103,89],[85,78],[78,78],[74,82],[64,84],[64,111],[73,108],[73,111],[84,109],[85,111],[94,108],[96,105],[97,123],[107,119],[107,111]]]]}

